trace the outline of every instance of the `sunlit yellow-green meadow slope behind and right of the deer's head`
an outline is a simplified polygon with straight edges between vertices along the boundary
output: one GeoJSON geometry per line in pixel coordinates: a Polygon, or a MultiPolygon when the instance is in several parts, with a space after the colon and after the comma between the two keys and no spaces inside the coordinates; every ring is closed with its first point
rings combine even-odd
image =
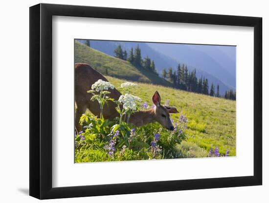
{"type": "MultiPolygon", "coordinates": [[[[107,79],[119,87],[121,79],[107,76],[107,79]]],[[[152,103],[152,95],[157,90],[160,93],[162,104],[170,100],[170,106],[182,111],[188,119],[188,138],[179,146],[183,157],[205,157],[210,148],[219,147],[220,152],[230,148],[230,156],[235,156],[236,151],[236,114],[235,101],[223,98],[206,96],[177,89],[137,83],[138,87],[131,93],[142,99],[141,104],[147,101],[152,103]]],[[[179,120],[179,114],[172,114],[172,118],[179,120]]]]}

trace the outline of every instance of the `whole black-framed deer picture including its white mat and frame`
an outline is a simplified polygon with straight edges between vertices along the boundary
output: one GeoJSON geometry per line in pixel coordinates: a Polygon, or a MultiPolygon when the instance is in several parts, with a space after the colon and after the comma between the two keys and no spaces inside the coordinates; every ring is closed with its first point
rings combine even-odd
{"type": "Polygon", "coordinates": [[[262,185],[262,18],[30,7],[30,195],[262,185]]]}

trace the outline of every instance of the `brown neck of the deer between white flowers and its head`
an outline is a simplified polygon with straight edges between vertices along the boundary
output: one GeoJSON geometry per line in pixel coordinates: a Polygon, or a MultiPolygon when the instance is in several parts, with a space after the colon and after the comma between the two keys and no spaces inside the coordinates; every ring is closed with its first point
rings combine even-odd
{"type": "Polygon", "coordinates": [[[129,122],[137,127],[156,122],[155,109],[135,112],[131,115],[129,122]]]}

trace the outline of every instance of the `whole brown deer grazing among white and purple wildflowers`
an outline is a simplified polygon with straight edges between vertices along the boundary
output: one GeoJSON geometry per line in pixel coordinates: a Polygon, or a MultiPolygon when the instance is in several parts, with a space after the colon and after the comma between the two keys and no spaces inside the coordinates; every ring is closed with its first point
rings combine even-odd
{"type": "MultiPolygon", "coordinates": [[[[98,79],[108,81],[102,74],[93,69],[86,63],[75,63],[75,128],[77,131],[82,130],[79,124],[79,119],[87,109],[95,116],[100,116],[100,108],[97,101],[91,101],[90,98],[93,94],[88,93],[91,85],[98,79]]],[[[110,98],[118,100],[121,93],[114,89],[109,89],[111,92],[110,98]]],[[[174,130],[174,126],[170,120],[170,113],[178,113],[176,108],[161,105],[161,97],[156,91],[152,96],[152,101],[155,107],[149,110],[141,110],[134,112],[130,118],[129,123],[134,124],[136,127],[141,127],[153,122],[158,122],[162,127],[169,130],[174,130]]],[[[119,116],[116,111],[117,105],[113,101],[108,101],[108,105],[104,106],[103,117],[104,119],[113,120],[119,116]]]]}

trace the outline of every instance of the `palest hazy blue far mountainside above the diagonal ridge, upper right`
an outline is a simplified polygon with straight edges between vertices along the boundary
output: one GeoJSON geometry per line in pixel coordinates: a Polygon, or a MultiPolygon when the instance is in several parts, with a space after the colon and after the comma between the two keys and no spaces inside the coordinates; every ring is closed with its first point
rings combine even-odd
{"type": "Polygon", "coordinates": [[[163,55],[169,55],[178,62],[211,74],[227,86],[235,88],[235,61],[232,61],[230,56],[218,51],[217,47],[168,43],[147,44],[163,55]]]}

